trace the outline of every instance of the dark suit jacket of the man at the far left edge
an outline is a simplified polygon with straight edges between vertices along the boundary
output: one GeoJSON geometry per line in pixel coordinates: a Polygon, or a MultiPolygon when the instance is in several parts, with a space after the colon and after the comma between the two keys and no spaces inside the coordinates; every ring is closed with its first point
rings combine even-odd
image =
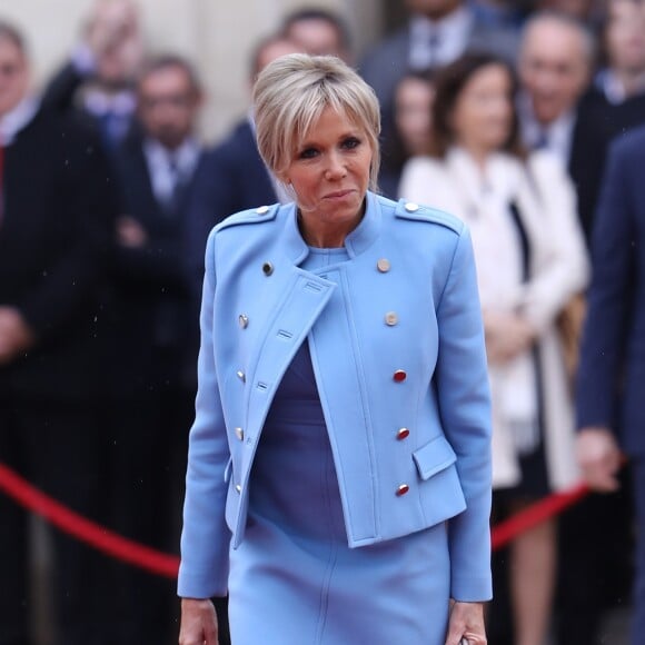
{"type": "Polygon", "coordinates": [[[7,148],[0,305],[21,311],[37,343],[0,367],[3,394],[79,400],[98,391],[111,185],[100,145],[72,115],[41,110],[7,148]]]}

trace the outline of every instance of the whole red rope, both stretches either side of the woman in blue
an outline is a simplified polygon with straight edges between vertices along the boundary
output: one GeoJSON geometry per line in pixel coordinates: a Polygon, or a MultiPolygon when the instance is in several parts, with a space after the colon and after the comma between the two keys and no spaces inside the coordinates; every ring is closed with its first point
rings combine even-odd
{"type": "MultiPolygon", "coordinates": [[[[169,578],[177,577],[179,558],[176,556],[121,537],[103,526],[86,519],[34,488],[29,482],[1,463],[0,492],[6,493],[24,508],[44,517],[60,530],[98,550],[157,575],[169,578]]],[[[502,548],[525,530],[573,506],[588,493],[589,489],[579,484],[570,490],[549,495],[497,524],[493,527],[493,548],[502,548]]]]}

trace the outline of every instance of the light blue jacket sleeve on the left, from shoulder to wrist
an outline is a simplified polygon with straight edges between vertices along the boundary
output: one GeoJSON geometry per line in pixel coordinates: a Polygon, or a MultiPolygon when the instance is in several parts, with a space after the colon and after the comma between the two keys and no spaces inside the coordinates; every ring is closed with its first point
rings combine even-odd
{"type": "Polygon", "coordinates": [[[225,470],[230,458],[214,351],[215,234],[206,250],[196,417],[190,429],[178,594],[224,596],[228,586],[230,530],[225,470]]]}

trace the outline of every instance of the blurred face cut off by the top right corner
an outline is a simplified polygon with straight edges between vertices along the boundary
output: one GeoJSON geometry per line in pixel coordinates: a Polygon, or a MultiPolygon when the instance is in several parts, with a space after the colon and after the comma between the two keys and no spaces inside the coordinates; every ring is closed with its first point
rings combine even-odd
{"type": "Polygon", "coordinates": [[[634,0],[609,6],[606,28],[609,64],[633,72],[645,71],[645,7],[634,0]]]}

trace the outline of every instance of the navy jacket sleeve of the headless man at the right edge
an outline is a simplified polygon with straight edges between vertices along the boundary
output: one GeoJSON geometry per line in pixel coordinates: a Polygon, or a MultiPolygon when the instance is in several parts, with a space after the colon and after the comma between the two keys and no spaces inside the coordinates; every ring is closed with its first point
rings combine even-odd
{"type": "MultiPolygon", "coordinates": [[[[623,149],[624,150],[624,149],[623,149]]],[[[577,374],[578,427],[612,427],[625,358],[626,327],[634,289],[638,239],[628,177],[637,167],[614,148],[603,183],[592,241],[588,291],[577,374]]]]}

